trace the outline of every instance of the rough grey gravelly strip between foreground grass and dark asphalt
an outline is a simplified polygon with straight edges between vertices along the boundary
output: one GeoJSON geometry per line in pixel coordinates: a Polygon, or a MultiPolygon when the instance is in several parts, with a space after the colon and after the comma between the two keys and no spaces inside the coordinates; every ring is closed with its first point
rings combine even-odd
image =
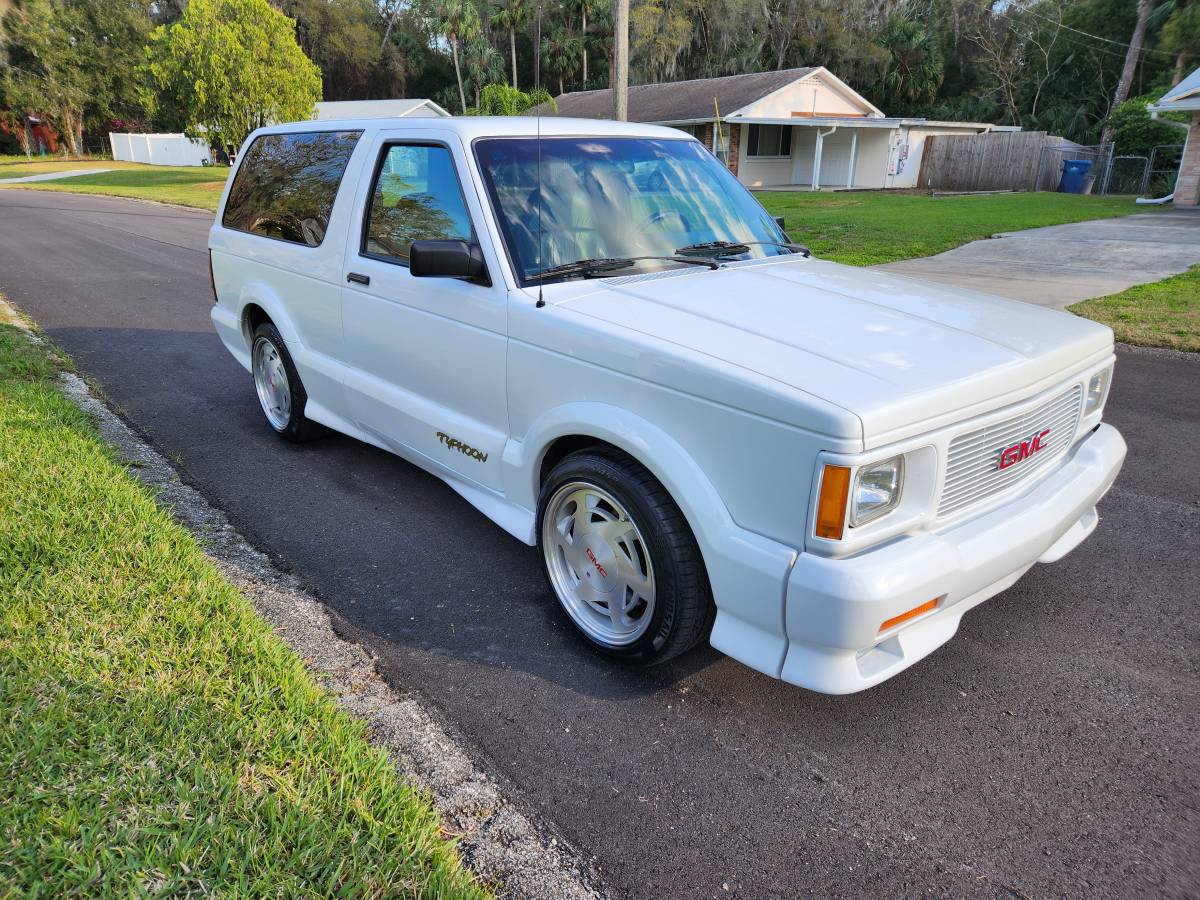
{"type": "MultiPolygon", "coordinates": [[[[0,322],[44,343],[36,325],[2,296],[0,322]]],[[[431,797],[467,869],[502,898],[606,895],[595,869],[553,826],[523,812],[415,695],[401,694],[385,682],[367,648],[341,636],[352,626],[251,546],[226,515],[184,484],[175,468],[83,378],[62,372],[59,386],[92,418],[126,470],[154,492],[222,577],[300,656],[338,709],[364,721],[371,744],[388,754],[401,778],[431,797]]]]}

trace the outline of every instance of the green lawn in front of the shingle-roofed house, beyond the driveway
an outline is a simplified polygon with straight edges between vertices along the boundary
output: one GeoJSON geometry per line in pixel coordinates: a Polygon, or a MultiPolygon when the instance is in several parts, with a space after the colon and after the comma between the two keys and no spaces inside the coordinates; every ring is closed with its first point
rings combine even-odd
{"type": "Polygon", "coordinates": [[[1123,216],[1139,210],[1132,197],[1004,193],[929,197],[901,193],[755,194],[784,216],[792,240],[823,258],[876,265],[928,257],[998,232],[1123,216]]]}

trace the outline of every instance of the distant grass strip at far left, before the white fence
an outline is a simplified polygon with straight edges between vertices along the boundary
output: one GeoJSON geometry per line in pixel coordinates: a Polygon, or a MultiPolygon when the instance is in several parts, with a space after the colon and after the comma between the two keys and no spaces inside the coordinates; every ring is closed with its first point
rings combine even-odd
{"type": "Polygon", "coordinates": [[[78,175],[61,181],[40,181],[23,185],[0,185],[0,188],[20,187],[34,191],[65,191],[67,193],[102,193],[115,197],[136,197],[143,200],[178,203],[182,206],[216,210],[224,188],[227,166],[145,166],[112,160],[77,160],[71,162],[34,162],[0,164],[0,179],[24,178],[42,172],[113,168],[97,175],[78,175]]]}

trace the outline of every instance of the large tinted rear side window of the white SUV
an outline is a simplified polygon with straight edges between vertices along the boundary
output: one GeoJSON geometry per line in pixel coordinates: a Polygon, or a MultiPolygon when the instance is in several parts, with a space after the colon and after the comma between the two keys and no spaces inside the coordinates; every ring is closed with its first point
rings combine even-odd
{"type": "Polygon", "coordinates": [[[361,131],[263,134],[246,151],[221,224],[320,246],[337,187],[361,131]]]}

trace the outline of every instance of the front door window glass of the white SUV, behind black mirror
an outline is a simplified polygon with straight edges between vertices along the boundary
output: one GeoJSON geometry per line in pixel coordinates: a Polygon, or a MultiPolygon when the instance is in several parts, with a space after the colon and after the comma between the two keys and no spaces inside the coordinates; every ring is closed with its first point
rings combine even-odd
{"type": "Polygon", "coordinates": [[[415,240],[472,240],[454,157],[444,146],[394,144],[376,172],[362,252],[408,262],[415,240]]]}

